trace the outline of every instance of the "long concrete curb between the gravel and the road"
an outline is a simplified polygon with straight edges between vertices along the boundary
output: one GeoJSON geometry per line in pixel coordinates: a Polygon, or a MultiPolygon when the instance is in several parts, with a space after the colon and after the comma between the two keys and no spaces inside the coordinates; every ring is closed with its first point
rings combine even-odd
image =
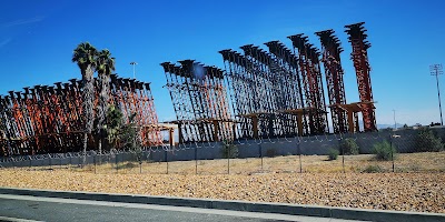
{"type": "Polygon", "coordinates": [[[14,188],[0,188],[0,193],[13,194],[13,195],[32,195],[32,196],[44,196],[44,198],[158,204],[158,205],[189,206],[189,208],[263,212],[263,213],[280,213],[288,215],[306,215],[306,216],[335,218],[335,219],[363,220],[363,221],[445,222],[444,213],[364,210],[364,209],[316,206],[316,205],[303,205],[303,204],[260,203],[260,202],[247,202],[247,201],[186,199],[186,198],[132,195],[132,194],[116,194],[116,193],[67,192],[67,191],[14,189],[14,188]]]}

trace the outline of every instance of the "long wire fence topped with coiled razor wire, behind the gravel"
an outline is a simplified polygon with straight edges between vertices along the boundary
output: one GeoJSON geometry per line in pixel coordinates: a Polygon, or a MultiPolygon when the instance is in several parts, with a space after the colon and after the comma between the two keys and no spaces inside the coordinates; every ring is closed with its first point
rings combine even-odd
{"type": "Polygon", "coordinates": [[[397,133],[237,140],[233,144],[214,142],[151,147],[140,152],[51,153],[3,158],[0,159],[0,168],[154,174],[445,172],[444,151],[414,152],[416,133],[415,130],[403,130],[397,133]],[[345,141],[356,144],[360,154],[345,147],[345,141]],[[376,159],[373,153],[376,147],[386,149],[382,154],[387,160],[376,159]],[[339,154],[337,158],[334,150],[339,154]],[[329,154],[335,160],[329,161],[329,154]]]}

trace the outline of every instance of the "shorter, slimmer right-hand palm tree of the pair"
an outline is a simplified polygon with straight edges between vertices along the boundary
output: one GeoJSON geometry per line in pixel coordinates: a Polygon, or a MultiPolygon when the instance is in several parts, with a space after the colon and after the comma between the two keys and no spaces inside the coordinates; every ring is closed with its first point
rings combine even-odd
{"type": "Polygon", "coordinates": [[[108,49],[101,50],[97,58],[98,85],[100,89],[99,104],[97,108],[97,132],[99,134],[99,154],[102,153],[102,134],[105,115],[108,109],[109,82],[111,71],[115,71],[115,58],[108,49]]]}

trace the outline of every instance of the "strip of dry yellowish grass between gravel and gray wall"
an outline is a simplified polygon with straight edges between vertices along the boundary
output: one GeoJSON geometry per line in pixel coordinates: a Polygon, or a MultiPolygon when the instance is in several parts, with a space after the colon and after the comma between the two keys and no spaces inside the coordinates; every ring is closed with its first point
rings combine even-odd
{"type": "MultiPolygon", "coordinates": [[[[366,172],[367,168],[378,168],[380,172],[392,172],[392,161],[376,161],[372,154],[345,155],[337,160],[327,161],[327,155],[301,155],[301,172],[307,173],[338,173],[366,172]]],[[[445,172],[445,152],[424,152],[424,153],[400,153],[395,158],[395,172],[445,172]]],[[[294,173],[300,172],[300,161],[298,155],[264,158],[261,159],[230,159],[230,160],[198,160],[198,161],[175,161],[168,162],[120,162],[116,167],[115,162],[102,162],[102,164],[87,165],[85,168],[70,167],[76,172],[96,173],[149,173],[149,174],[227,174],[228,162],[230,174],[255,174],[255,173],[294,173]],[[141,169],[140,169],[141,168],[141,169]]],[[[48,169],[33,168],[33,169],[48,169]]],[[[55,170],[59,167],[53,167],[55,170]]]]}

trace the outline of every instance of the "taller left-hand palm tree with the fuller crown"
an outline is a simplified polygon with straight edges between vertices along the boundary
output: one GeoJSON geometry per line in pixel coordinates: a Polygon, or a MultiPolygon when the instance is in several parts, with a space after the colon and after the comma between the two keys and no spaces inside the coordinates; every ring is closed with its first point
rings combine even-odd
{"type": "Polygon", "coordinates": [[[97,67],[97,56],[98,52],[95,47],[89,42],[82,42],[73,51],[72,62],[77,62],[82,74],[82,110],[83,110],[83,164],[86,162],[88,134],[92,131],[93,125],[93,98],[95,98],[95,87],[93,87],[93,73],[97,67]]]}

